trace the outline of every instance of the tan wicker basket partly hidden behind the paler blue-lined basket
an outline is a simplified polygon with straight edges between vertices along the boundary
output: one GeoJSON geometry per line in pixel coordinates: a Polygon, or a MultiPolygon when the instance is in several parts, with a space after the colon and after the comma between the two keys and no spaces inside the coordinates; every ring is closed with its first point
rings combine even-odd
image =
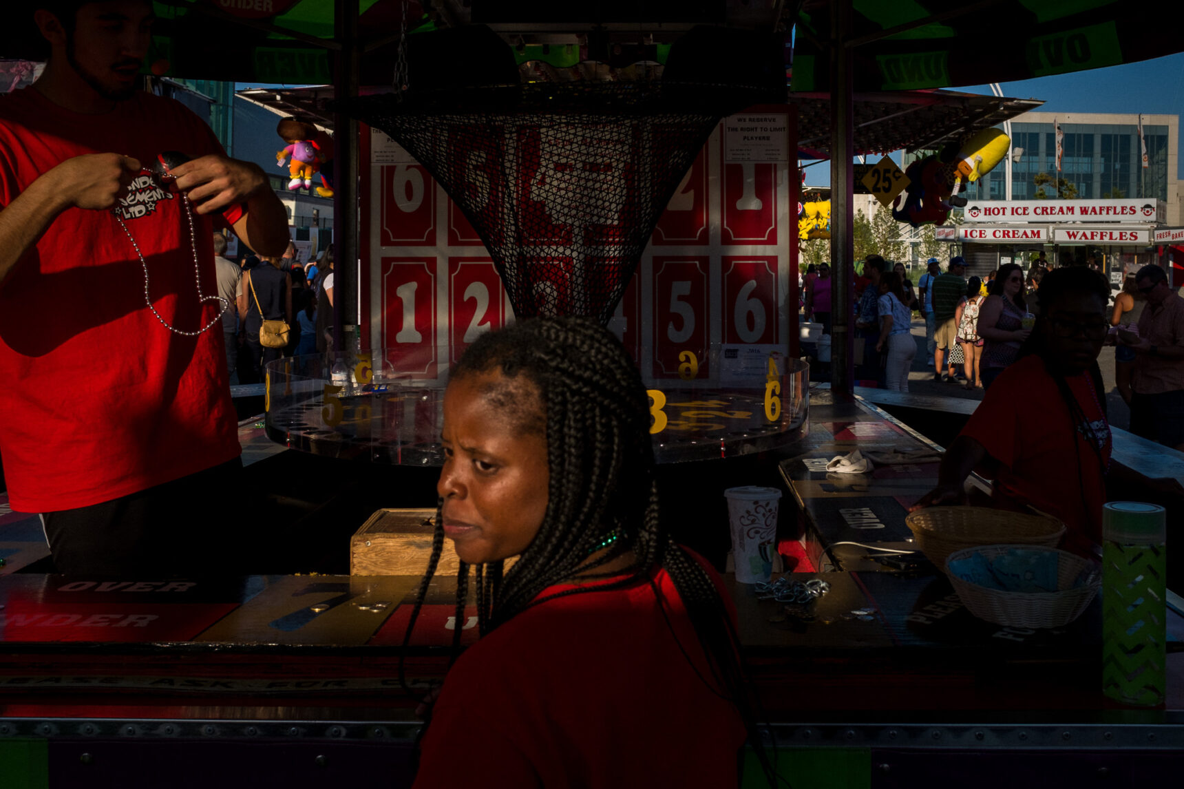
{"type": "Polygon", "coordinates": [[[1056,547],[1064,524],[1047,515],[1025,515],[990,507],[926,507],[905,519],[925,558],[946,570],[946,557],[979,545],[1056,547]]]}

